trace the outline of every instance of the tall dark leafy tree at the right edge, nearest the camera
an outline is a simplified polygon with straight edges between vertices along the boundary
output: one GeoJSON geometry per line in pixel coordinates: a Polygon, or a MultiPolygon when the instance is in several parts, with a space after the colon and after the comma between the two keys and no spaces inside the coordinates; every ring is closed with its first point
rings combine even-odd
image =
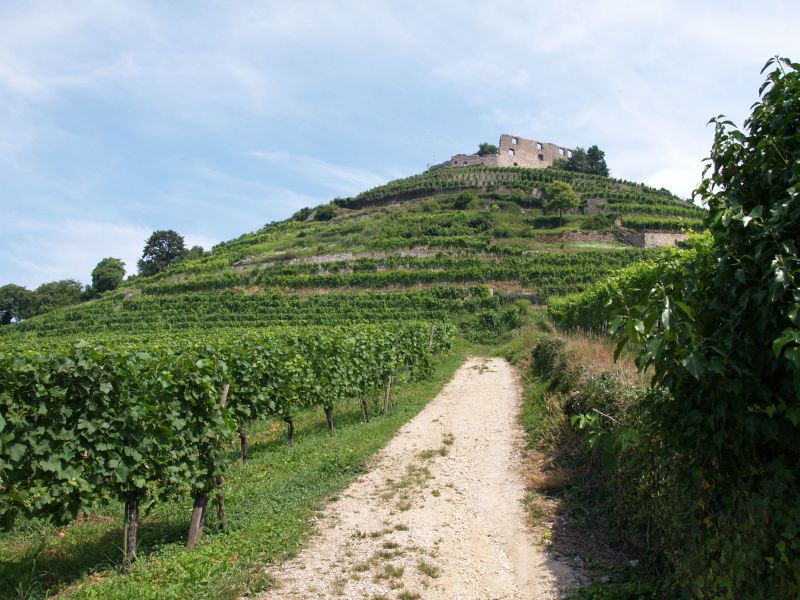
{"type": "Polygon", "coordinates": [[[711,121],[710,236],[617,320],[672,394],[650,411],[693,597],[800,597],[800,63],[769,68],[744,131],[711,121]]]}

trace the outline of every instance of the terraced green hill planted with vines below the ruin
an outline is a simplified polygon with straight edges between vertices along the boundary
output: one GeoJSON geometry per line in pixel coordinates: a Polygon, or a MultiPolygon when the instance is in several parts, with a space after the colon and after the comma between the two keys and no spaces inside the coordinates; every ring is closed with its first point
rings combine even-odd
{"type": "Polygon", "coordinates": [[[499,332],[517,299],[580,291],[657,250],[636,232],[696,228],[703,210],[666,190],[562,171],[431,169],[224,242],[101,299],[2,331],[64,336],[404,319],[499,332]],[[563,219],[543,190],[567,181],[563,219]]]}

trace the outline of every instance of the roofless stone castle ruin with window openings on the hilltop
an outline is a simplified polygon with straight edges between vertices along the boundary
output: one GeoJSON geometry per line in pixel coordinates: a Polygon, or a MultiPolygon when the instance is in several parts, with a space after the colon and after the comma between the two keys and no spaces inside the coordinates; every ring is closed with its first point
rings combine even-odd
{"type": "Polygon", "coordinates": [[[560,158],[572,156],[572,149],[547,142],[526,140],[517,135],[504,133],[500,136],[497,154],[456,154],[437,167],[528,167],[543,169],[560,158]]]}

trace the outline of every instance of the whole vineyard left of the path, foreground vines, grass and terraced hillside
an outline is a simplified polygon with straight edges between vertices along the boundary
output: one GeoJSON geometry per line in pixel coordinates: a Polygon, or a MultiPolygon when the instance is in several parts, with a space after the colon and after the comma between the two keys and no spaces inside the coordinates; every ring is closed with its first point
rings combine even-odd
{"type": "MultiPolygon", "coordinates": [[[[258,579],[433,397],[465,340],[517,330],[530,303],[594,298],[662,254],[627,245],[626,230],[697,228],[704,214],[553,169],[434,170],[330,206],[0,328],[0,595],[181,598],[204,578],[258,579]],[[547,214],[554,180],[583,208],[547,214]],[[75,558],[81,536],[93,564],[75,558]]],[[[570,308],[574,326],[606,301],[570,308]]],[[[550,304],[562,325],[569,302],[550,304]]]]}

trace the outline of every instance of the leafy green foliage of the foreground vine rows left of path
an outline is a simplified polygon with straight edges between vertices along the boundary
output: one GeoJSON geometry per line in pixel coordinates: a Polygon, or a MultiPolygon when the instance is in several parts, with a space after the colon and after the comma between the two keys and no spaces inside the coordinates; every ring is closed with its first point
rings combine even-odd
{"type": "Polygon", "coordinates": [[[134,506],[221,483],[225,443],[248,421],[330,409],[425,377],[449,348],[442,324],[238,330],[71,345],[0,346],[0,521],[67,521],[110,499],[134,506]]]}

